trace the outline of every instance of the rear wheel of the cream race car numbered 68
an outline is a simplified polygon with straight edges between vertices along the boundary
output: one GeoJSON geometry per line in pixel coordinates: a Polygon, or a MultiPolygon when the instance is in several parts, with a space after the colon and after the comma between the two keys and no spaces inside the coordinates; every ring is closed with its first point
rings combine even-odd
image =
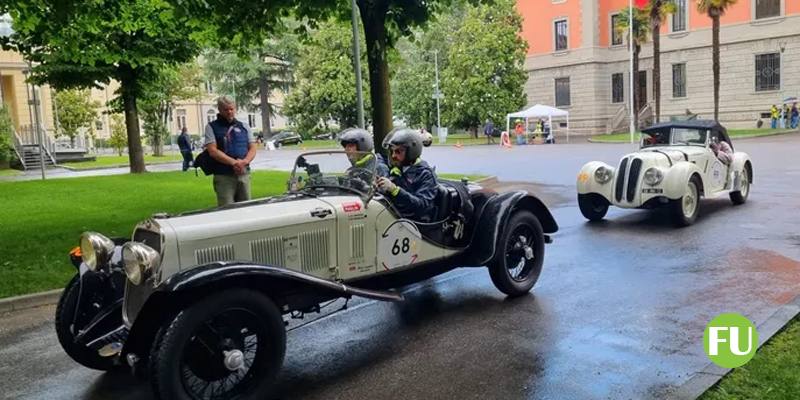
{"type": "Polygon", "coordinates": [[[498,290],[510,297],[528,293],[542,272],[544,264],[544,232],[536,216],[530,211],[515,212],[503,227],[497,242],[494,259],[489,263],[489,276],[498,290]],[[533,251],[527,259],[525,246],[533,251]]]}

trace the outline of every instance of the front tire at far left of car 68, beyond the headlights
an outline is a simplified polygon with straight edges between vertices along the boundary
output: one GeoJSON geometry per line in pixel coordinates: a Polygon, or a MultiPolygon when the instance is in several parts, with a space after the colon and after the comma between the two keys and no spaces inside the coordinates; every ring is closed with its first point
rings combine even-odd
{"type": "MultiPolygon", "coordinates": [[[[90,295],[88,293],[80,293],[80,279],[81,277],[78,274],[73,276],[58,300],[58,306],[56,306],[56,337],[58,337],[58,342],[61,343],[61,347],[67,355],[78,364],[99,371],[110,371],[117,367],[113,357],[102,357],[97,354],[97,351],[75,343],[75,334],[70,325],[75,319],[78,296],[90,295]]],[[[84,310],[83,312],[96,313],[96,311],[93,309],[84,310]]],[[[84,316],[81,320],[88,320],[88,318],[89,316],[84,316]]]]}

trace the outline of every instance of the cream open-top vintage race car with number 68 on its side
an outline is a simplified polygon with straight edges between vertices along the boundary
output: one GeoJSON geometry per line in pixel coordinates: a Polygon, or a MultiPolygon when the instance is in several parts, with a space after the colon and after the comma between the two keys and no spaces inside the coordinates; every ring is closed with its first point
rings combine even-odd
{"type": "Polygon", "coordinates": [[[129,365],[157,398],[273,398],[286,322],[332,300],[402,301],[398,288],[462,266],[488,266],[509,296],[538,280],[558,225],[535,196],[440,180],[432,219],[416,221],[375,193],[375,174],[307,153],[284,195],[156,215],[131,240],[84,233],[59,342],[89,368],[129,365]]]}

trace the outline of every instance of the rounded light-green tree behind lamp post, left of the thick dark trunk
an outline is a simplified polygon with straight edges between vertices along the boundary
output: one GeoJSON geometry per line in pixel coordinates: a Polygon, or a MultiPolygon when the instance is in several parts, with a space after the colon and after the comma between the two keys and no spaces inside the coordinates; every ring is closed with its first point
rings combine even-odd
{"type": "Polygon", "coordinates": [[[330,21],[320,25],[302,46],[295,84],[284,105],[286,116],[301,134],[328,130],[330,121],[343,128],[357,125],[356,79],[348,57],[352,44],[350,28],[330,21]]]}

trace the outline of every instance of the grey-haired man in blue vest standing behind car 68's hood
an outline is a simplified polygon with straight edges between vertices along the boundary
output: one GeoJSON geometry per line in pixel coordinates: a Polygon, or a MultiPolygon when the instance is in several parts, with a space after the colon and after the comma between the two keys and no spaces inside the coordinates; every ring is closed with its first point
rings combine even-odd
{"type": "Polygon", "coordinates": [[[217,119],[206,125],[203,145],[217,162],[214,192],[217,205],[250,199],[250,162],[256,144],[250,127],[236,119],[236,103],[228,96],[217,99],[217,119]]]}

